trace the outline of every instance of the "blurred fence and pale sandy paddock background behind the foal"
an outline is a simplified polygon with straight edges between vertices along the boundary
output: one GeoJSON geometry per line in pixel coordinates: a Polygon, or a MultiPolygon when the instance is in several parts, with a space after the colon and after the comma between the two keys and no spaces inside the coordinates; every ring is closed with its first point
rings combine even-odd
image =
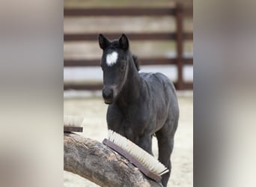
{"type": "MultiPolygon", "coordinates": [[[[177,1],[170,0],[64,1],[64,115],[85,117],[82,136],[97,141],[107,137],[107,105],[101,97],[102,50],[98,46],[98,34],[106,34],[110,40],[127,34],[130,50],[140,60],[141,72],[161,72],[174,82],[180,104],[180,123],[168,186],[186,187],[193,183],[192,31],[190,0],[179,1],[178,5],[177,1]],[[181,19],[177,7],[183,12],[181,19]],[[123,10],[123,15],[104,13],[106,10],[115,12],[113,8],[123,10]],[[126,8],[130,10],[124,13],[126,8]],[[153,10],[153,14],[136,13],[139,8],[153,10]],[[177,34],[179,29],[180,35],[177,34]]],[[[153,153],[157,156],[156,139],[153,139],[153,153]]],[[[97,185],[64,171],[64,186],[97,185]]]]}

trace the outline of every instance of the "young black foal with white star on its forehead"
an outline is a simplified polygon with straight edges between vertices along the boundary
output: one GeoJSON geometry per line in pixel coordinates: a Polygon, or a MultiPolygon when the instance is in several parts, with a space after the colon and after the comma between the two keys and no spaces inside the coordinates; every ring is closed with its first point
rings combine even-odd
{"type": "MultiPolygon", "coordinates": [[[[103,49],[103,99],[109,104],[108,128],[152,155],[152,136],[156,135],[159,161],[171,172],[179,118],[174,85],[162,73],[138,73],[138,61],[129,51],[125,34],[113,41],[100,34],[99,43],[103,49]]],[[[167,186],[170,172],[162,176],[163,186],[167,186]]]]}

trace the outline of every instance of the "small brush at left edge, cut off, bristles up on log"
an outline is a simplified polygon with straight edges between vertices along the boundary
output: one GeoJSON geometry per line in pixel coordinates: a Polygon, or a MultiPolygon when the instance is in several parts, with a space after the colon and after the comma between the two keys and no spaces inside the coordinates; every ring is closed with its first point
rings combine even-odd
{"type": "Polygon", "coordinates": [[[64,116],[64,132],[82,132],[84,117],[64,116]]]}

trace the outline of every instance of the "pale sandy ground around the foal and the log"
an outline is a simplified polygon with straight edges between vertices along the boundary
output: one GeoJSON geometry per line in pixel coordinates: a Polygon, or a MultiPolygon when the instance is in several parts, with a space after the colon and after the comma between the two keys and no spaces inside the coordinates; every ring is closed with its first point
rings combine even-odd
{"type": "MultiPolygon", "coordinates": [[[[172,171],[168,186],[191,187],[193,184],[193,98],[178,96],[180,121],[175,136],[172,154],[172,171]]],[[[107,105],[97,96],[80,99],[64,99],[64,114],[85,117],[82,136],[103,141],[107,137],[107,105]]],[[[157,156],[156,138],[153,139],[153,153],[157,156]]],[[[94,187],[97,186],[75,174],[64,171],[64,186],[94,187]]]]}

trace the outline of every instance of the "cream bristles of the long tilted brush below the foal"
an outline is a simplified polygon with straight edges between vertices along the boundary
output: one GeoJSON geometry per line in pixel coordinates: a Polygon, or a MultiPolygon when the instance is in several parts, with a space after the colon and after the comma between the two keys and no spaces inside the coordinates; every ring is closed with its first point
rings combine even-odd
{"type": "Polygon", "coordinates": [[[117,132],[109,130],[109,141],[126,150],[134,159],[137,159],[145,168],[148,168],[153,174],[162,175],[168,172],[168,168],[162,165],[155,157],[132,143],[127,138],[119,135],[117,132]]]}

